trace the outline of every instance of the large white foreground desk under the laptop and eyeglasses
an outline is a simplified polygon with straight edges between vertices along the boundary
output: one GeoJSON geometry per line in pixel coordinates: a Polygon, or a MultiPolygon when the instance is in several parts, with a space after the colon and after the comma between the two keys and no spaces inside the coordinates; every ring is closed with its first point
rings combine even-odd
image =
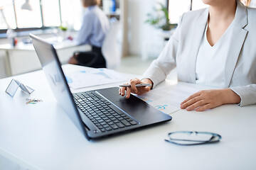
{"type": "Polygon", "coordinates": [[[12,78],[0,80],[0,154],[27,169],[256,169],[256,106],[177,111],[169,123],[89,142],[58,106],[43,72],[15,77],[36,89],[30,98],[43,100],[36,105],[26,105],[21,91],[5,94],[12,78]],[[176,130],[223,139],[189,147],[164,142],[176,130]]]}

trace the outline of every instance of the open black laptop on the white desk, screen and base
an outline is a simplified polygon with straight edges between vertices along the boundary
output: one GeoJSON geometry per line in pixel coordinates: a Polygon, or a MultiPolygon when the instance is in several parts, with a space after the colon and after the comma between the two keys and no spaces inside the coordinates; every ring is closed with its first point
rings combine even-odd
{"type": "Polygon", "coordinates": [[[118,87],[72,94],[53,45],[36,35],[31,34],[30,37],[50,89],[87,140],[171,120],[170,115],[162,113],[136,96],[131,95],[129,99],[120,96],[118,87]]]}

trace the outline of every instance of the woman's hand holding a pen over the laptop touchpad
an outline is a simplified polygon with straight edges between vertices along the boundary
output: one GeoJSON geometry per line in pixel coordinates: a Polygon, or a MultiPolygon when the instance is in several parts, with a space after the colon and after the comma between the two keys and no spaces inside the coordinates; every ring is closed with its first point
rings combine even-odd
{"type": "Polygon", "coordinates": [[[124,96],[125,95],[125,91],[127,91],[125,98],[129,98],[130,94],[146,94],[146,92],[149,92],[151,89],[151,86],[140,86],[140,87],[136,87],[136,84],[143,84],[143,83],[147,83],[147,84],[153,84],[152,81],[150,79],[142,79],[142,81],[140,79],[131,79],[129,81],[131,87],[120,87],[119,88],[119,95],[124,96]]]}

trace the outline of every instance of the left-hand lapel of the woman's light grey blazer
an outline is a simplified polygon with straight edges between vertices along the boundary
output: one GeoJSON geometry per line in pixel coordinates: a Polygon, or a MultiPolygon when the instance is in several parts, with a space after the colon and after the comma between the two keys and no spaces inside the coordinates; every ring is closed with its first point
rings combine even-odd
{"type": "Polygon", "coordinates": [[[203,33],[206,30],[206,23],[208,21],[208,8],[206,8],[200,16],[198,16],[196,22],[194,23],[193,36],[192,36],[192,44],[190,47],[190,82],[193,84],[196,83],[196,57],[198,55],[198,50],[201,45],[201,40],[203,38],[203,33]]]}

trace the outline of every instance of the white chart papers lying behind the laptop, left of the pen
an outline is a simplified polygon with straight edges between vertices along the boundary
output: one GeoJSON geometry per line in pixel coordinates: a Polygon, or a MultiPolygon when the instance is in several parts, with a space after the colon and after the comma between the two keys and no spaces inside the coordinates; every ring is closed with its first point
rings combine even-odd
{"type": "Polygon", "coordinates": [[[80,89],[102,84],[112,84],[127,81],[127,76],[111,69],[82,68],[74,72],[66,72],[68,85],[73,89],[80,89]]]}

